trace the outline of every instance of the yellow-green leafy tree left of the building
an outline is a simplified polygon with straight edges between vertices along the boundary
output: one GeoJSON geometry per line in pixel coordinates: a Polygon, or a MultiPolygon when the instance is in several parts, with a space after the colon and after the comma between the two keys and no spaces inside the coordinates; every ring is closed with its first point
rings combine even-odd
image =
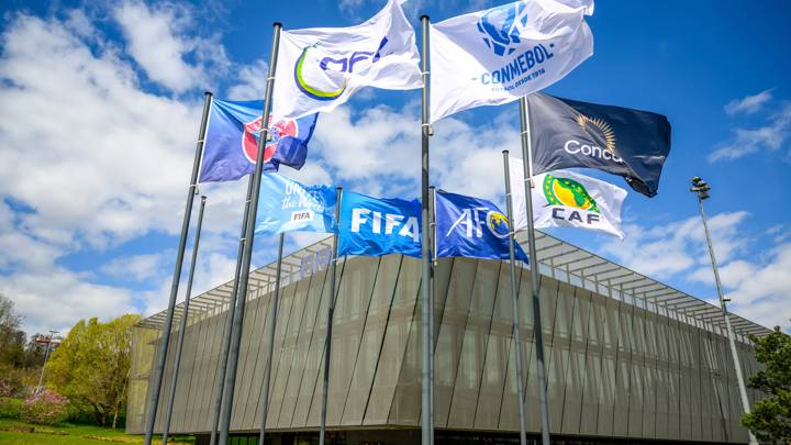
{"type": "Polygon", "coordinates": [[[80,320],[47,363],[49,381],[73,404],[105,426],[125,411],[131,359],[131,327],[138,315],[108,323],[80,320]]]}

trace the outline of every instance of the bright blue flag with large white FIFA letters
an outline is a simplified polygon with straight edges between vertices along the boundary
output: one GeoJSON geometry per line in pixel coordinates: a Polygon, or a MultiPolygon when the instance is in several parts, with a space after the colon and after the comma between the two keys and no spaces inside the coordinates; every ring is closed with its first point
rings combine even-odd
{"type": "Polygon", "coordinates": [[[341,200],[338,255],[421,257],[419,200],[345,192],[341,200]]]}

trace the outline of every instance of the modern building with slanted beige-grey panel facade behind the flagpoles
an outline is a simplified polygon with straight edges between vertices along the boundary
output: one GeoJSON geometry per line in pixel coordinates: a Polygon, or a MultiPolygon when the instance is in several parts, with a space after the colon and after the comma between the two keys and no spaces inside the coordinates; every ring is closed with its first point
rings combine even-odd
{"type": "MultiPolygon", "coordinates": [[[[283,258],[266,426],[269,443],[317,443],[331,241],[283,258]]],[[[547,234],[539,234],[537,244],[554,440],[747,442],[718,307],[547,234]]],[[[522,265],[519,274],[524,403],[535,440],[539,414],[530,270],[522,265]]],[[[233,403],[232,433],[237,444],[256,443],[260,430],[274,281],[275,265],[250,276],[233,403]]],[[[212,289],[190,305],[170,431],[198,434],[199,443],[208,443],[211,429],[231,288],[229,282],[212,289]]],[[[391,255],[339,262],[328,443],[419,443],[420,288],[421,263],[415,258],[391,255]]],[[[436,443],[517,443],[509,263],[441,259],[434,294],[436,443]]],[[[161,312],[134,327],[130,433],[144,430],[164,320],[161,312]]],[[[732,320],[744,374],[750,376],[757,365],[747,335],[769,330],[736,315],[732,320]]],[[[176,337],[171,336],[169,351],[175,349],[176,337]]],[[[168,397],[171,369],[169,354],[160,407],[168,397]]],[[[756,392],[748,391],[755,400],[756,392]]],[[[164,411],[158,412],[157,431],[164,411]]]]}

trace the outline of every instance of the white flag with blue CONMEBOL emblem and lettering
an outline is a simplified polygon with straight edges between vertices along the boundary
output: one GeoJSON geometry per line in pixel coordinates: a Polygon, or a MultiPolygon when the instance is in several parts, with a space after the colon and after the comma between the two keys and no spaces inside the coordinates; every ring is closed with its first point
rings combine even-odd
{"type": "Polygon", "coordinates": [[[432,25],[432,122],[562,79],[593,54],[592,13],[593,0],[531,0],[432,25]]]}

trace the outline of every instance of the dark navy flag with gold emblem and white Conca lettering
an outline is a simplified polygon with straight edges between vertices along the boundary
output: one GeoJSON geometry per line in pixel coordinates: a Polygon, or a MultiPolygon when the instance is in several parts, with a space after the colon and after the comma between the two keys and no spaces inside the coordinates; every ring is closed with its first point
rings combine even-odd
{"type": "Polygon", "coordinates": [[[530,104],[533,173],[588,167],[619,175],[647,197],[657,193],[670,153],[670,123],[648,111],[535,93],[530,104]]]}

